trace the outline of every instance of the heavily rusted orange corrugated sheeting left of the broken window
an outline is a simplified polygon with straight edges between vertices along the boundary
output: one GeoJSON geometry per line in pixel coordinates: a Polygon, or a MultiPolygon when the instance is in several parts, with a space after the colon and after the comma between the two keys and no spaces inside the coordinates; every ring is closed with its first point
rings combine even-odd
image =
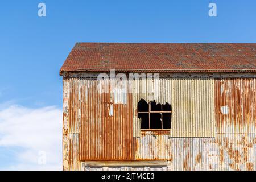
{"type": "Polygon", "coordinates": [[[100,93],[99,84],[95,79],[69,79],[68,132],[80,133],[81,160],[133,160],[131,94],[100,93]],[[108,104],[113,104],[113,116],[108,104]]]}

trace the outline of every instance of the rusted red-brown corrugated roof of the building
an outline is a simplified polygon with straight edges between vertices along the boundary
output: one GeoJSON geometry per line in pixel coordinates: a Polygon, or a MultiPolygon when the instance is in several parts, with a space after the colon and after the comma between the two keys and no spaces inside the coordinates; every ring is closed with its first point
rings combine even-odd
{"type": "Polygon", "coordinates": [[[76,43],[63,71],[256,72],[256,44],[76,43]]]}

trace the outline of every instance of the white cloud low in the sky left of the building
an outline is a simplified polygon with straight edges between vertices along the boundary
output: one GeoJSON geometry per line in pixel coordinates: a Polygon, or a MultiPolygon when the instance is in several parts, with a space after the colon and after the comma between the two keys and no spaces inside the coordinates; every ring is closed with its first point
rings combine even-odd
{"type": "Polygon", "coordinates": [[[29,109],[11,105],[0,110],[0,147],[16,147],[16,164],[5,169],[61,170],[62,114],[55,106],[29,109]],[[20,149],[22,148],[22,149],[20,149]],[[44,159],[46,164],[40,164],[44,159]]]}

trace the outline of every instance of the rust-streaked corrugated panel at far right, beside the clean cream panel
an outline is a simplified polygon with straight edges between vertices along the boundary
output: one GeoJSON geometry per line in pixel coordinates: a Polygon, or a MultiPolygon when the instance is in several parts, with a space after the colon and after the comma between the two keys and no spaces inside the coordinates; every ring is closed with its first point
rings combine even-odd
{"type": "Polygon", "coordinates": [[[256,79],[215,81],[217,133],[256,132],[256,79]]]}

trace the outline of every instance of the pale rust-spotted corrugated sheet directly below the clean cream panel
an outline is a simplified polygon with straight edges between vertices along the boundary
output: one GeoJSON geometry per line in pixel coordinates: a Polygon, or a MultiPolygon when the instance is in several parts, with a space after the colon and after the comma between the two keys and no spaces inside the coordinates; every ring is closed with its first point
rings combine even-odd
{"type": "Polygon", "coordinates": [[[170,138],[169,147],[170,170],[210,170],[216,163],[214,138],[170,138]]]}

